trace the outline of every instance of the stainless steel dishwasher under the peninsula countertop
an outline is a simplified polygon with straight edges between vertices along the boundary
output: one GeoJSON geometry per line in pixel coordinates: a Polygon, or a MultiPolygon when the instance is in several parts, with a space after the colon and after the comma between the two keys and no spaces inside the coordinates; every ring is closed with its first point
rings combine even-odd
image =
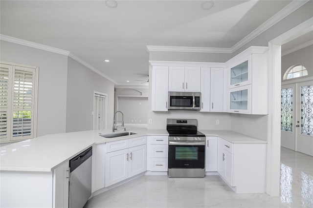
{"type": "Polygon", "coordinates": [[[69,208],[83,208],[91,196],[92,147],[69,161],[69,208]]]}

